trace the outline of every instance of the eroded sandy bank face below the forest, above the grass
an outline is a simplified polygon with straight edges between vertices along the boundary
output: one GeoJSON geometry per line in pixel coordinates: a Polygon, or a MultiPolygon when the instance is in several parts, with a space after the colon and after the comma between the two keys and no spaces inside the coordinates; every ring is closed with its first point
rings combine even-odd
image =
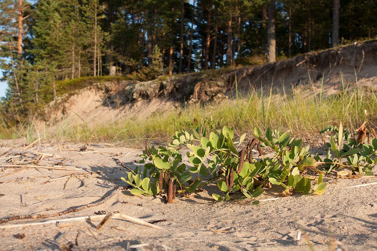
{"type": "Polygon", "coordinates": [[[307,53],[272,64],[186,75],[163,76],[153,81],[107,82],[85,88],[50,104],[48,123],[76,119],[102,124],[125,117],[147,117],[184,105],[185,101],[210,101],[233,96],[236,88],[247,93],[262,86],[286,90],[307,86],[336,93],[343,83],[377,86],[377,41],[307,53]],[[356,81],[356,78],[358,81],[356,81]]]}

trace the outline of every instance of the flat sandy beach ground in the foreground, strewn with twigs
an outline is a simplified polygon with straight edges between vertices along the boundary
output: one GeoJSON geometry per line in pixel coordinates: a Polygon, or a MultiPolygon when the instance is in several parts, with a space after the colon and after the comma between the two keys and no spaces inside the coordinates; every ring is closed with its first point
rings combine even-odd
{"type": "MultiPolygon", "coordinates": [[[[0,176],[0,218],[26,214],[54,214],[67,209],[91,205],[102,201],[117,187],[126,185],[120,180],[126,166],[134,168],[141,149],[107,145],[92,145],[86,152],[72,150],[81,145],[62,146],[57,155],[68,158],[86,169],[66,171],[28,168],[7,176],[0,176]],[[69,150],[69,151],[68,151],[69,150]],[[69,173],[89,173],[101,177],[71,176],[47,182],[69,173]],[[65,188],[64,188],[65,186],[65,188]],[[21,196],[23,195],[23,204],[21,196]]],[[[32,152],[54,154],[56,146],[29,148],[31,153],[15,157],[15,163],[34,159],[32,152]]],[[[22,146],[6,145],[0,148],[0,157],[17,155],[22,146]],[[14,151],[9,152],[9,151],[14,151]]],[[[40,157],[41,155],[37,155],[40,157]]],[[[41,160],[40,166],[53,166],[54,162],[41,160]]],[[[0,159],[5,163],[7,159],[0,159]]],[[[62,159],[64,160],[64,159],[62,159]]],[[[9,164],[9,163],[8,163],[9,164]]],[[[6,172],[15,168],[4,169],[6,172]]],[[[0,175],[4,173],[0,169],[0,175]]],[[[306,231],[316,250],[333,248],[343,250],[375,250],[377,248],[377,184],[346,188],[375,182],[376,178],[359,178],[328,182],[321,196],[294,194],[276,201],[262,201],[252,206],[250,201],[214,203],[211,194],[217,186],[210,184],[201,192],[184,198],[177,195],[177,203],[164,204],[162,197],[133,196],[129,190],[120,190],[101,205],[45,219],[23,219],[0,224],[41,222],[95,215],[95,212],[120,212],[144,221],[168,219],[155,225],[162,230],[135,224],[126,220],[111,219],[102,230],[96,230],[100,220],[79,222],[59,228],[56,224],[28,227],[0,228],[1,250],[127,250],[127,245],[149,243],[145,250],[309,250],[305,238],[297,240],[299,224],[306,231]],[[224,232],[216,232],[220,230],[224,232]],[[57,239],[60,233],[64,237],[57,239]],[[17,234],[25,234],[18,239],[17,234]],[[72,246],[69,248],[69,244],[72,246]],[[164,245],[164,246],[163,246],[164,245]]],[[[260,199],[279,198],[279,189],[267,190],[260,199]]],[[[135,250],[130,248],[129,250],[135,250]]]]}

